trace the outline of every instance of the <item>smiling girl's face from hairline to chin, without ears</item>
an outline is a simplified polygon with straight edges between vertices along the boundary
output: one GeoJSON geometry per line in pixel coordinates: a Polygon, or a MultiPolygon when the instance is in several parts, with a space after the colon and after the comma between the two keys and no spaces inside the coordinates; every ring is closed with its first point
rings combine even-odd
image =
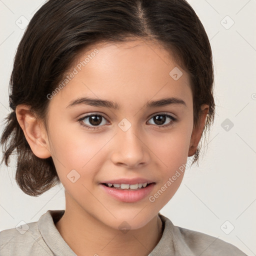
{"type": "Polygon", "coordinates": [[[193,129],[188,74],[159,44],[143,40],[95,45],[71,72],[52,93],[47,116],[66,207],[113,228],[123,221],[142,227],[183,177],[193,129]],[[152,104],[166,98],[172,103],[152,104]]]}

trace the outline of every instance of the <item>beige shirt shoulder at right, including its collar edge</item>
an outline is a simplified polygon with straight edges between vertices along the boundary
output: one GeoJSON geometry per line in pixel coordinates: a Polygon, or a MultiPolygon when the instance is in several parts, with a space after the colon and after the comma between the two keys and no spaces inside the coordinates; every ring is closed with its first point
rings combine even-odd
{"type": "Polygon", "coordinates": [[[177,251],[184,251],[184,248],[186,248],[185,251],[189,251],[189,255],[246,256],[246,254],[236,246],[225,242],[218,237],[174,226],[167,217],[162,216],[161,218],[164,219],[166,226],[170,230],[173,244],[177,251]]]}

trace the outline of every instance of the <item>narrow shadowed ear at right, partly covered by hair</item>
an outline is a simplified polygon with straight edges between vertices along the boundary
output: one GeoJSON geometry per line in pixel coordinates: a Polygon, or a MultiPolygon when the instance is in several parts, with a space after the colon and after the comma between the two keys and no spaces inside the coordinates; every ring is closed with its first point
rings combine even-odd
{"type": "Polygon", "coordinates": [[[206,116],[207,116],[208,112],[209,112],[209,105],[207,105],[207,104],[201,105],[201,114],[199,116],[199,125],[197,128],[195,126],[193,127],[187,156],[192,156],[195,154],[197,145],[198,145],[201,135],[202,135],[202,131],[203,131],[203,128],[205,125],[205,120],[206,120],[206,116]]]}

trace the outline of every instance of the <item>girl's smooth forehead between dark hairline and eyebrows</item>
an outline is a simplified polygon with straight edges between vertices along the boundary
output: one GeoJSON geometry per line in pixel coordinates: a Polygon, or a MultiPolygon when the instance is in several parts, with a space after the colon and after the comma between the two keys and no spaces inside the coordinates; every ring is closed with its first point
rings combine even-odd
{"type": "Polygon", "coordinates": [[[122,105],[124,99],[134,103],[168,94],[188,100],[191,94],[188,74],[169,51],[152,40],[92,45],[80,52],[67,75],[72,72],[75,75],[55,99],[66,102],[77,96],[91,96],[122,105]],[[180,77],[173,79],[173,73],[180,77]]]}

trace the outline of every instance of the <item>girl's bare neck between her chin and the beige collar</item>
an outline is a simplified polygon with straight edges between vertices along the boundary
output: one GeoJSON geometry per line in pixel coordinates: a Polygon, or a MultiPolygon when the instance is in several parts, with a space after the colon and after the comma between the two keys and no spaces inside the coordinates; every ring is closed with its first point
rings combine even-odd
{"type": "Polygon", "coordinates": [[[158,215],[141,228],[120,232],[84,210],[74,210],[67,201],[65,212],[55,226],[78,256],[120,254],[146,256],[153,250],[162,235],[162,222],[158,215]]]}

